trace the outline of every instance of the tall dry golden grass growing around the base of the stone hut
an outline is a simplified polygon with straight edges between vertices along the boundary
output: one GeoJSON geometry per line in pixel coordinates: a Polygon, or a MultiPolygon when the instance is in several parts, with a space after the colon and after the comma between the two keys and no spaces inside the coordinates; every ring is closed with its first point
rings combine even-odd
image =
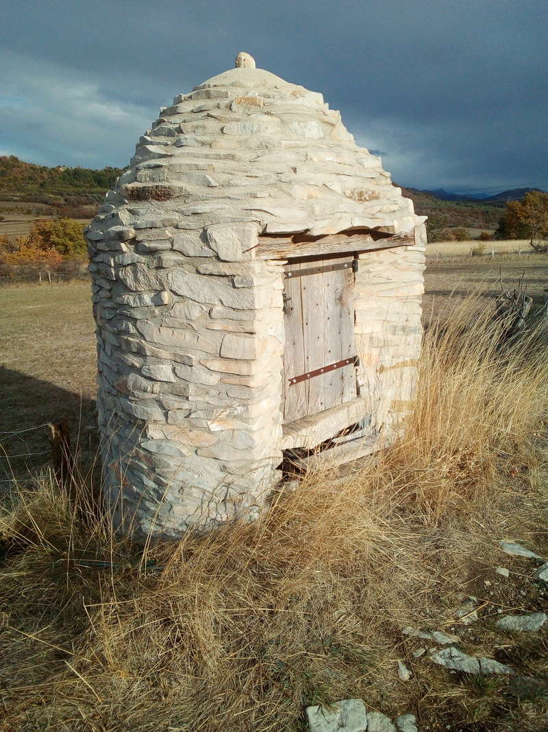
{"type": "Polygon", "coordinates": [[[398,684],[401,629],[446,626],[495,539],[534,531],[544,486],[544,335],[501,348],[479,302],[425,335],[400,444],[309,474],[256,523],[143,554],[85,485],[21,489],[1,518],[0,730],[297,731],[348,697],[454,714],[460,692],[398,684]]]}

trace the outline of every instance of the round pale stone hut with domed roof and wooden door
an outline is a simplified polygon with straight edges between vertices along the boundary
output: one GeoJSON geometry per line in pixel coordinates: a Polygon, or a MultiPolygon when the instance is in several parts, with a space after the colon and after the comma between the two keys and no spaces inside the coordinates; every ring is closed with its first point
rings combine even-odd
{"type": "Polygon", "coordinates": [[[394,440],[416,388],[423,221],[321,94],[246,53],[161,108],[86,230],[123,531],[253,518],[284,458],[394,440]]]}

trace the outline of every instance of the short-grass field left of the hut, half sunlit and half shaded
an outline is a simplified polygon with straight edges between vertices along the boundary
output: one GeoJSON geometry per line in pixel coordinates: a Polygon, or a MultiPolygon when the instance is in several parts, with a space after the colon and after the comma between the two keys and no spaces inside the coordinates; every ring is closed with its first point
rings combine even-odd
{"type": "Polygon", "coordinates": [[[0,288],[0,313],[1,488],[11,471],[49,463],[38,425],[68,419],[94,449],[96,356],[89,283],[0,288]]]}

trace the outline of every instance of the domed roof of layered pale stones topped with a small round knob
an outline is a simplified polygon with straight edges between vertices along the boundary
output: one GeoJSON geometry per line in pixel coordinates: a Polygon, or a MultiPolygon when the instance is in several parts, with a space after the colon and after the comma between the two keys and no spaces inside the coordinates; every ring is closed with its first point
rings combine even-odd
{"type": "Polygon", "coordinates": [[[161,109],[104,211],[169,212],[180,228],[257,222],[263,234],[397,233],[424,220],[321,94],[250,58],[161,109]]]}

